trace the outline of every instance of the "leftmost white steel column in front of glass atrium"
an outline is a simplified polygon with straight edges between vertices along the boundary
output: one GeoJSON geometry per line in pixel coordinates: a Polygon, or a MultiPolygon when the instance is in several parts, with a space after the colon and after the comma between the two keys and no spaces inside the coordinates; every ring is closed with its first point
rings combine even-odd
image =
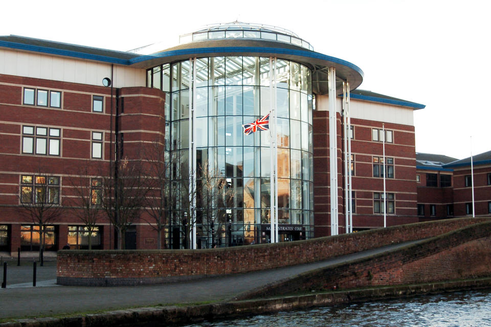
{"type": "Polygon", "coordinates": [[[191,248],[196,249],[196,58],[189,58],[189,240],[191,248]]]}

